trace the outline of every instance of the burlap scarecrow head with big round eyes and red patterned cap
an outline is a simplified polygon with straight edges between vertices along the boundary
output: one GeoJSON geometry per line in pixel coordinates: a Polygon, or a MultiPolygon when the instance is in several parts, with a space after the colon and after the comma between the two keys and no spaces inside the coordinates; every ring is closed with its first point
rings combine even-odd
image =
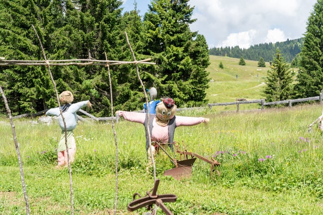
{"type": "Polygon", "coordinates": [[[172,98],[164,98],[156,107],[157,123],[166,126],[176,113],[176,105],[172,98]]]}

